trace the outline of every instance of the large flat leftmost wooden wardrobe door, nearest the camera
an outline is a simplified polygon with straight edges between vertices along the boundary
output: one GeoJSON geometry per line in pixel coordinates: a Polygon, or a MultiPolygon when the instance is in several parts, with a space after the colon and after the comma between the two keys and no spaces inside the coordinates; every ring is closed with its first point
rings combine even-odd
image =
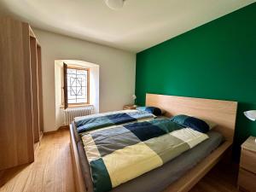
{"type": "Polygon", "coordinates": [[[0,17],[0,170],[34,160],[29,27],[0,17]]]}

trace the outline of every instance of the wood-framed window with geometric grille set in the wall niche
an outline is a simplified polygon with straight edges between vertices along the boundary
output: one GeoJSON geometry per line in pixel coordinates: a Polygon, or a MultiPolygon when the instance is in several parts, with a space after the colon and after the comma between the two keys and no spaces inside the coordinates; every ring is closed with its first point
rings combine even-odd
{"type": "Polygon", "coordinates": [[[64,108],[89,104],[90,70],[64,64],[64,108]]]}

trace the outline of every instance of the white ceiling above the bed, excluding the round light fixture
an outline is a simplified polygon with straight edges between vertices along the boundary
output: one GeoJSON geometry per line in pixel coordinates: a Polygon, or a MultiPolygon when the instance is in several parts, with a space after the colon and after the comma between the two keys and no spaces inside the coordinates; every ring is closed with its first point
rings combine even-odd
{"type": "Polygon", "coordinates": [[[125,0],[114,11],[104,0],[0,0],[0,9],[49,32],[138,52],[253,2],[125,0]]]}

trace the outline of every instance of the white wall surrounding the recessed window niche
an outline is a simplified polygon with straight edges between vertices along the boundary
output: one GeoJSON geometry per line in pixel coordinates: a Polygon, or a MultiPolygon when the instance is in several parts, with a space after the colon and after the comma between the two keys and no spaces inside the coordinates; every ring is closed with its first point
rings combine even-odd
{"type": "Polygon", "coordinates": [[[100,66],[100,112],[131,103],[136,55],[124,50],[33,29],[42,46],[44,131],[55,131],[55,60],[80,60],[100,66]]]}

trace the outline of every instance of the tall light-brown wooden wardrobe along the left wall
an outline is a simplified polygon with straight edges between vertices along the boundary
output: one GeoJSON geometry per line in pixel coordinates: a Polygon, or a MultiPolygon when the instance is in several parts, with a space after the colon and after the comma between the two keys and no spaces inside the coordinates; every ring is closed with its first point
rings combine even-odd
{"type": "Polygon", "coordinates": [[[31,27],[0,17],[0,170],[34,160],[44,129],[41,69],[31,27]]]}

